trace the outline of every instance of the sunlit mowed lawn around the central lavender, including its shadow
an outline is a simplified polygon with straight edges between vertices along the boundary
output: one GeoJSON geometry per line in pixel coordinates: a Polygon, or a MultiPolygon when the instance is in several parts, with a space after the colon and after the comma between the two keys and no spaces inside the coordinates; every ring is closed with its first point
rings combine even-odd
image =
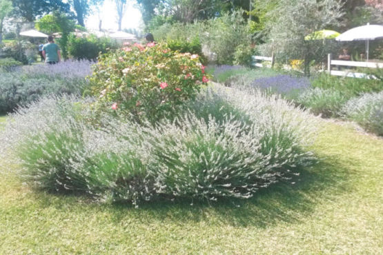
{"type": "Polygon", "coordinates": [[[383,139],[323,121],[314,150],[321,163],[294,185],[250,200],[138,209],[32,191],[10,165],[0,171],[0,253],[382,254],[383,139]]]}

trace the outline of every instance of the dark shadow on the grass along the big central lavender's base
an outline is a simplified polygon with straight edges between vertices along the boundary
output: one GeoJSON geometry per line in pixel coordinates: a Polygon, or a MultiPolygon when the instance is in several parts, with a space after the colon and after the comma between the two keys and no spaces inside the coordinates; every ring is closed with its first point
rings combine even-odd
{"type": "MultiPolygon", "coordinates": [[[[166,222],[182,225],[184,223],[257,226],[267,227],[277,222],[299,223],[304,216],[311,214],[319,203],[328,203],[335,196],[348,190],[349,171],[345,162],[327,158],[315,167],[299,170],[299,176],[291,181],[279,182],[264,190],[259,190],[253,198],[225,198],[218,202],[192,201],[176,199],[175,201],[155,201],[143,203],[135,209],[128,203],[96,204],[86,203],[84,210],[107,212],[112,221],[119,223],[125,220],[139,221],[142,224],[166,222]],[[292,184],[295,183],[295,184],[292,184]],[[193,205],[190,205],[193,203],[193,205]]],[[[38,192],[39,193],[39,192],[38,192]]],[[[86,197],[72,195],[36,194],[36,201],[41,207],[75,208],[82,210],[86,197]],[[54,196],[54,198],[52,198],[54,196]]]]}

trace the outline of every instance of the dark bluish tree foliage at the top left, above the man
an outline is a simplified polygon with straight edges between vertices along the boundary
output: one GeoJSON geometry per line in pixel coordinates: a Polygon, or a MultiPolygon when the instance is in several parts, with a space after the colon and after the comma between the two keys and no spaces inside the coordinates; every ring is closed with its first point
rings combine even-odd
{"type": "Polygon", "coordinates": [[[70,5],[61,0],[12,0],[12,5],[15,16],[30,22],[54,10],[70,13],[70,5]]]}

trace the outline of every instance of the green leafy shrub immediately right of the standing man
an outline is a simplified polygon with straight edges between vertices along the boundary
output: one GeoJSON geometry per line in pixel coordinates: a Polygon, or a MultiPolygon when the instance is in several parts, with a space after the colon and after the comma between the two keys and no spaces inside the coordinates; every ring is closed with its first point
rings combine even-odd
{"type": "Polygon", "coordinates": [[[106,53],[108,50],[117,49],[117,43],[111,39],[102,37],[97,38],[94,35],[90,37],[75,37],[74,35],[69,38],[68,52],[73,58],[87,59],[95,61],[99,53],[106,53]]]}

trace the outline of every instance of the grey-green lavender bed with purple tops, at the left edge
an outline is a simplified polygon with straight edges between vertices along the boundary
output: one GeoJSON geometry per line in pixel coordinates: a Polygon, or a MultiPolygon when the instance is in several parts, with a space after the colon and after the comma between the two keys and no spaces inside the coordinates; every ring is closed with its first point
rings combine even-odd
{"type": "Polygon", "coordinates": [[[0,114],[47,94],[82,94],[91,74],[89,61],[31,65],[0,72],[0,114]]]}

